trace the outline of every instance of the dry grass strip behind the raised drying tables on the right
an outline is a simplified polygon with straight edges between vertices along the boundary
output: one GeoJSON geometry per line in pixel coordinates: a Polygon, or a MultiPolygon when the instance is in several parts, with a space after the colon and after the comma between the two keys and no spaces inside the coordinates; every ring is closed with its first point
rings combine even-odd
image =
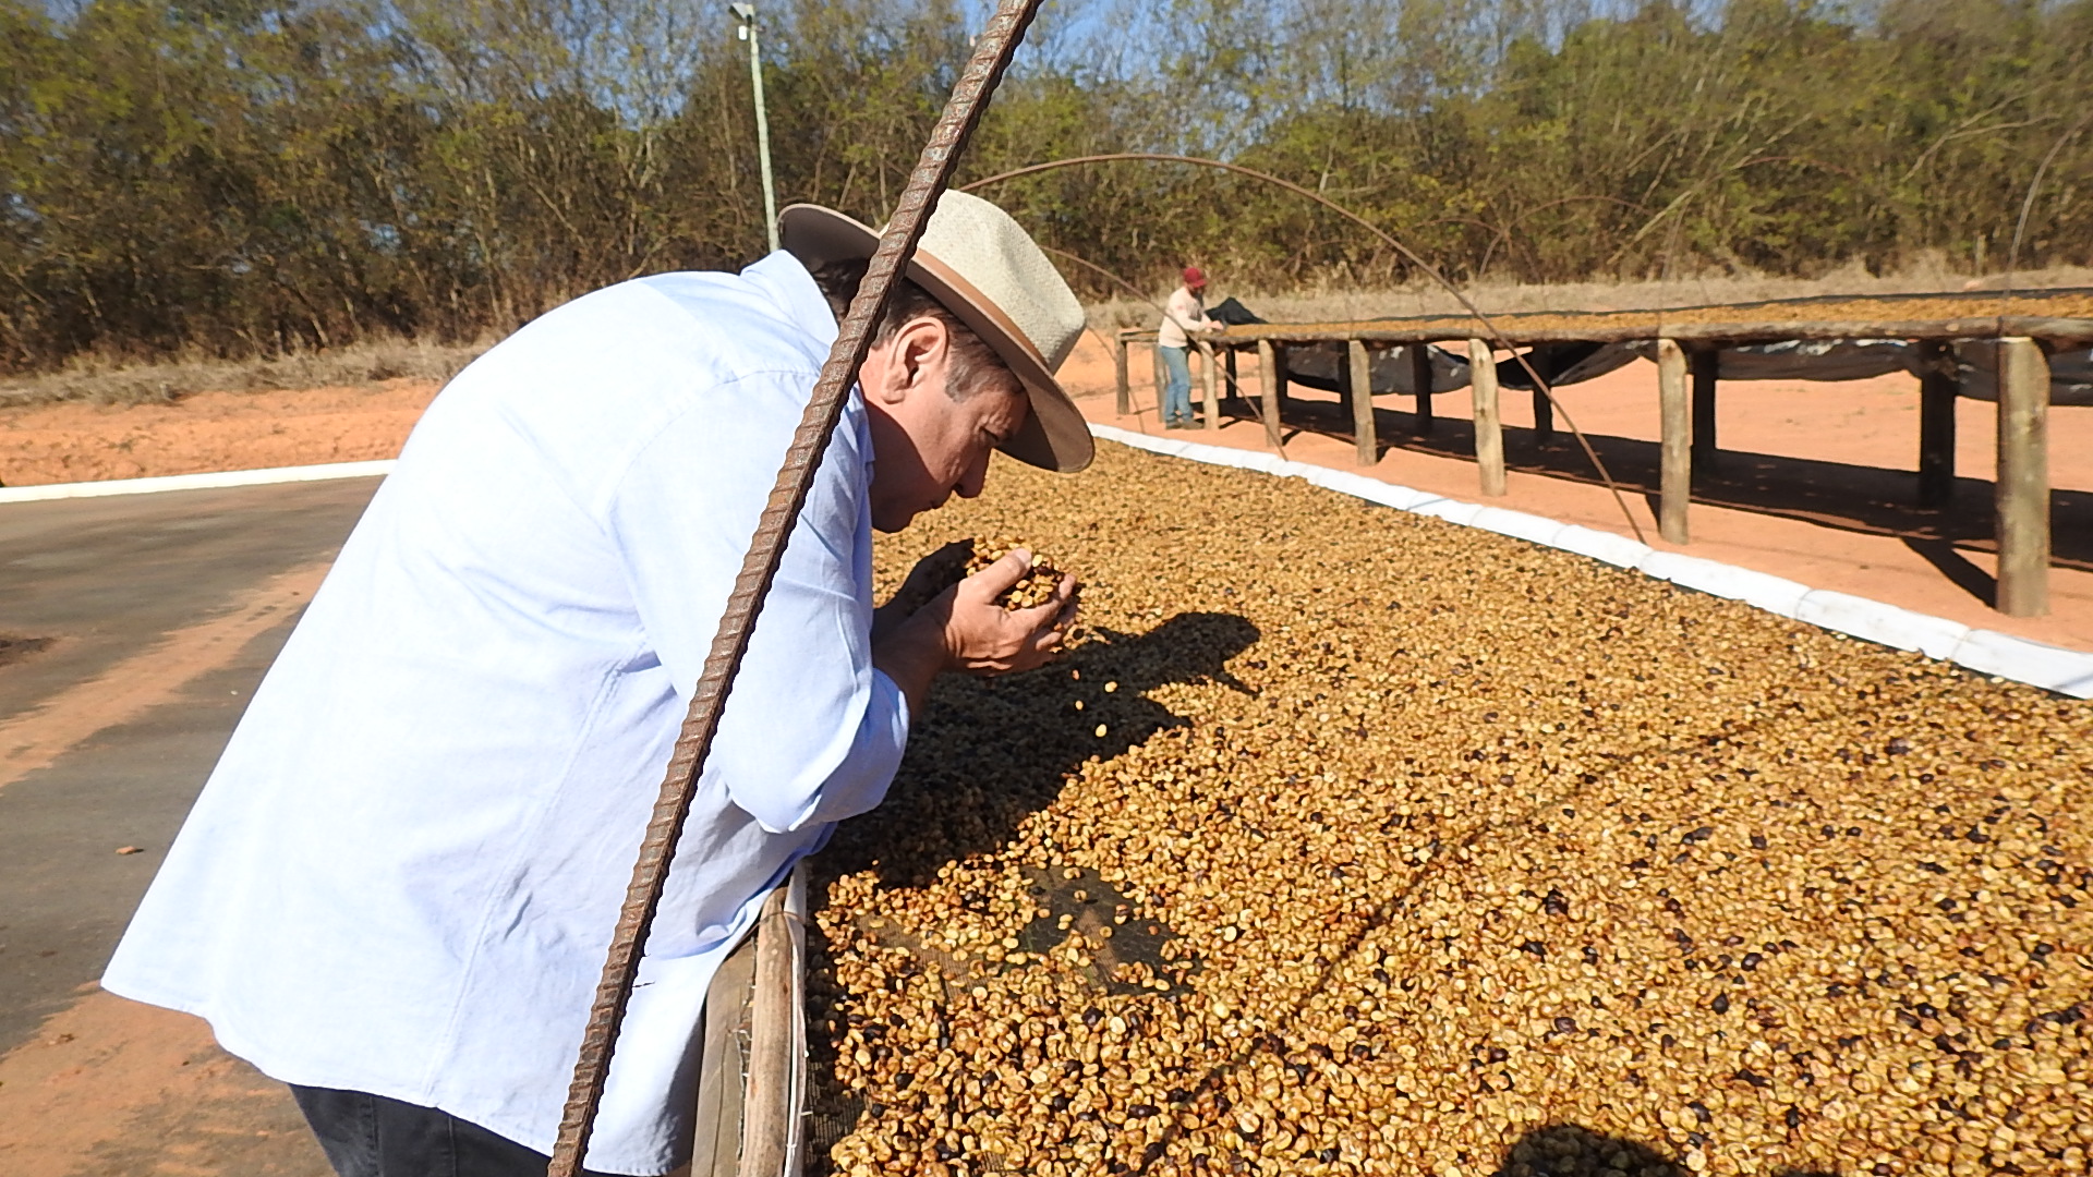
{"type": "MultiPolygon", "coordinates": [[[[2003,274],[1972,279],[1936,264],[1917,264],[1894,274],[1869,274],[1861,266],[1848,266],[1821,279],[1769,279],[1708,274],[1695,279],[1672,279],[1662,283],[1568,283],[1568,285],[1515,285],[1480,283],[1465,287],[1467,297],[1484,314],[1520,310],[1656,310],[1676,306],[1710,306],[1733,302],[1764,302],[1779,297],[1821,297],[1821,295],[1907,295],[1940,291],[2003,289],[2003,274]]],[[[2051,270],[2022,272],[2013,276],[2013,289],[2057,289],[2093,287],[2093,268],[2060,266],[2051,270]]],[[[1254,291],[1233,289],[1226,274],[1218,274],[1208,287],[1208,306],[1224,297],[1239,297],[1243,306],[1256,310],[1273,323],[1354,323],[1360,318],[1400,318],[1417,314],[1453,314],[1461,304],[1438,285],[1409,285],[1396,289],[1306,289],[1306,291],[1254,291]]],[[[1164,293],[1155,299],[1162,302],[1164,293]]],[[[1130,297],[1097,304],[1090,308],[1090,325],[1099,331],[1120,327],[1153,327],[1157,310],[1130,297]]]]}

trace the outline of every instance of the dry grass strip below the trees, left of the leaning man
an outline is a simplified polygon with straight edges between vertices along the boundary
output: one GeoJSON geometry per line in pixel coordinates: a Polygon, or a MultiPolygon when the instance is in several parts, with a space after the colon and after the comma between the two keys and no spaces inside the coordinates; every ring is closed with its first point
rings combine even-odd
{"type": "Polygon", "coordinates": [[[389,379],[446,381],[490,346],[492,339],[460,346],[375,339],[272,360],[180,358],[138,364],[82,358],[57,373],[0,383],[0,408],[63,400],[167,404],[199,392],[356,387],[389,379]]]}

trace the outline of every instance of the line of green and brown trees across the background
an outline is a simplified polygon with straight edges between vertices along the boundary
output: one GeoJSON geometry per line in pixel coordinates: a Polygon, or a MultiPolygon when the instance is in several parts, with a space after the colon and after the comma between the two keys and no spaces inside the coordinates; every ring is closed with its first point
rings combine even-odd
{"type": "MultiPolygon", "coordinates": [[[[883,220],[980,0],[764,0],[781,201],[883,220]]],[[[670,0],[0,0],[0,371],[471,339],[764,249],[745,46],[670,0]]],[[[2093,0],[1055,0],[961,182],[1310,186],[1457,279],[2093,262],[2093,0]],[[2041,182],[2036,184],[2036,178],[2041,182]]],[[[1298,195],[984,191],[1162,289],[1400,283],[1298,195]]],[[[1067,266],[1090,295],[1118,293],[1067,266]]]]}

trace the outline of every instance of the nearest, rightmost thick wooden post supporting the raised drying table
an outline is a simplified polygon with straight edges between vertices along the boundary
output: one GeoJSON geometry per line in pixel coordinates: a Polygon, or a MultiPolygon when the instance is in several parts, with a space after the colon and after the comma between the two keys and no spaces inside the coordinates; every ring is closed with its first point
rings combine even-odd
{"type": "Polygon", "coordinates": [[[1999,339],[1999,612],[2049,614],[2049,358],[2034,339],[1999,339]]]}

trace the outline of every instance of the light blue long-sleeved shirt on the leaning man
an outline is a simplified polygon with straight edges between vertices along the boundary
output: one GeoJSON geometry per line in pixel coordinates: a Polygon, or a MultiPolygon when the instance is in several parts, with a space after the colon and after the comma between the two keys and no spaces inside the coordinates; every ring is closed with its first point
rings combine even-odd
{"type": "MultiPolygon", "coordinates": [[[[676,729],[835,318],[787,253],[576,299],[435,398],[270,668],[105,986],[264,1072],[550,1152],[676,729]]],[[[588,1167],[687,1148],[714,968],[906,704],[871,664],[852,394],[647,942],[588,1167]]]]}

